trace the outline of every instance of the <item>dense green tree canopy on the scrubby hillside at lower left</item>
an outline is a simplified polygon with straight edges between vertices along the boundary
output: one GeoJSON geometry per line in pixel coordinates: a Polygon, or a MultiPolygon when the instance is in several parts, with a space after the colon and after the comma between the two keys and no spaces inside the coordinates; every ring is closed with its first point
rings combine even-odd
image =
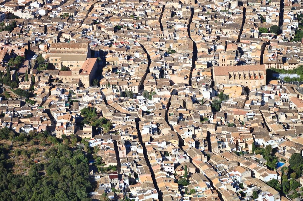
{"type": "MultiPolygon", "coordinates": [[[[8,131],[1,129],[1,137],[6,139],[8,131]]],[[[24,138],[26,136],[21,138],[21,134],[18,137],[19,140],[24,138]]],[[[91,191],[88,159],[82,151],[72,151],[68,145],[58,144],[56,148],[51,147],[43,153],[48,161],[32,163],[28,174],[15,174],[9,168],[12,164],[5,157],[7,152],[8,150],[0,146],[2,200],[91,200],[88,198],[88,192],[91,191]],[[40,174],[42,172],[45,175],[40,174]]],[[[16,156],[21,154],[28,157],[24,150],[15,148],[14,153],[16,156]]]]}

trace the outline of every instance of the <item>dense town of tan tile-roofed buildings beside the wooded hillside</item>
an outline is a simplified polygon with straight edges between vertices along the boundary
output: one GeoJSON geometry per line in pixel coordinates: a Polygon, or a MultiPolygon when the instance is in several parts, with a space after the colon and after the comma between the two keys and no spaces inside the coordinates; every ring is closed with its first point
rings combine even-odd
{"type": "Polygon", "coordinates": [[[77,136],[92,199],[303,200],[301,1],[5,0],[0,21],[0,127],[77,136]]]}

